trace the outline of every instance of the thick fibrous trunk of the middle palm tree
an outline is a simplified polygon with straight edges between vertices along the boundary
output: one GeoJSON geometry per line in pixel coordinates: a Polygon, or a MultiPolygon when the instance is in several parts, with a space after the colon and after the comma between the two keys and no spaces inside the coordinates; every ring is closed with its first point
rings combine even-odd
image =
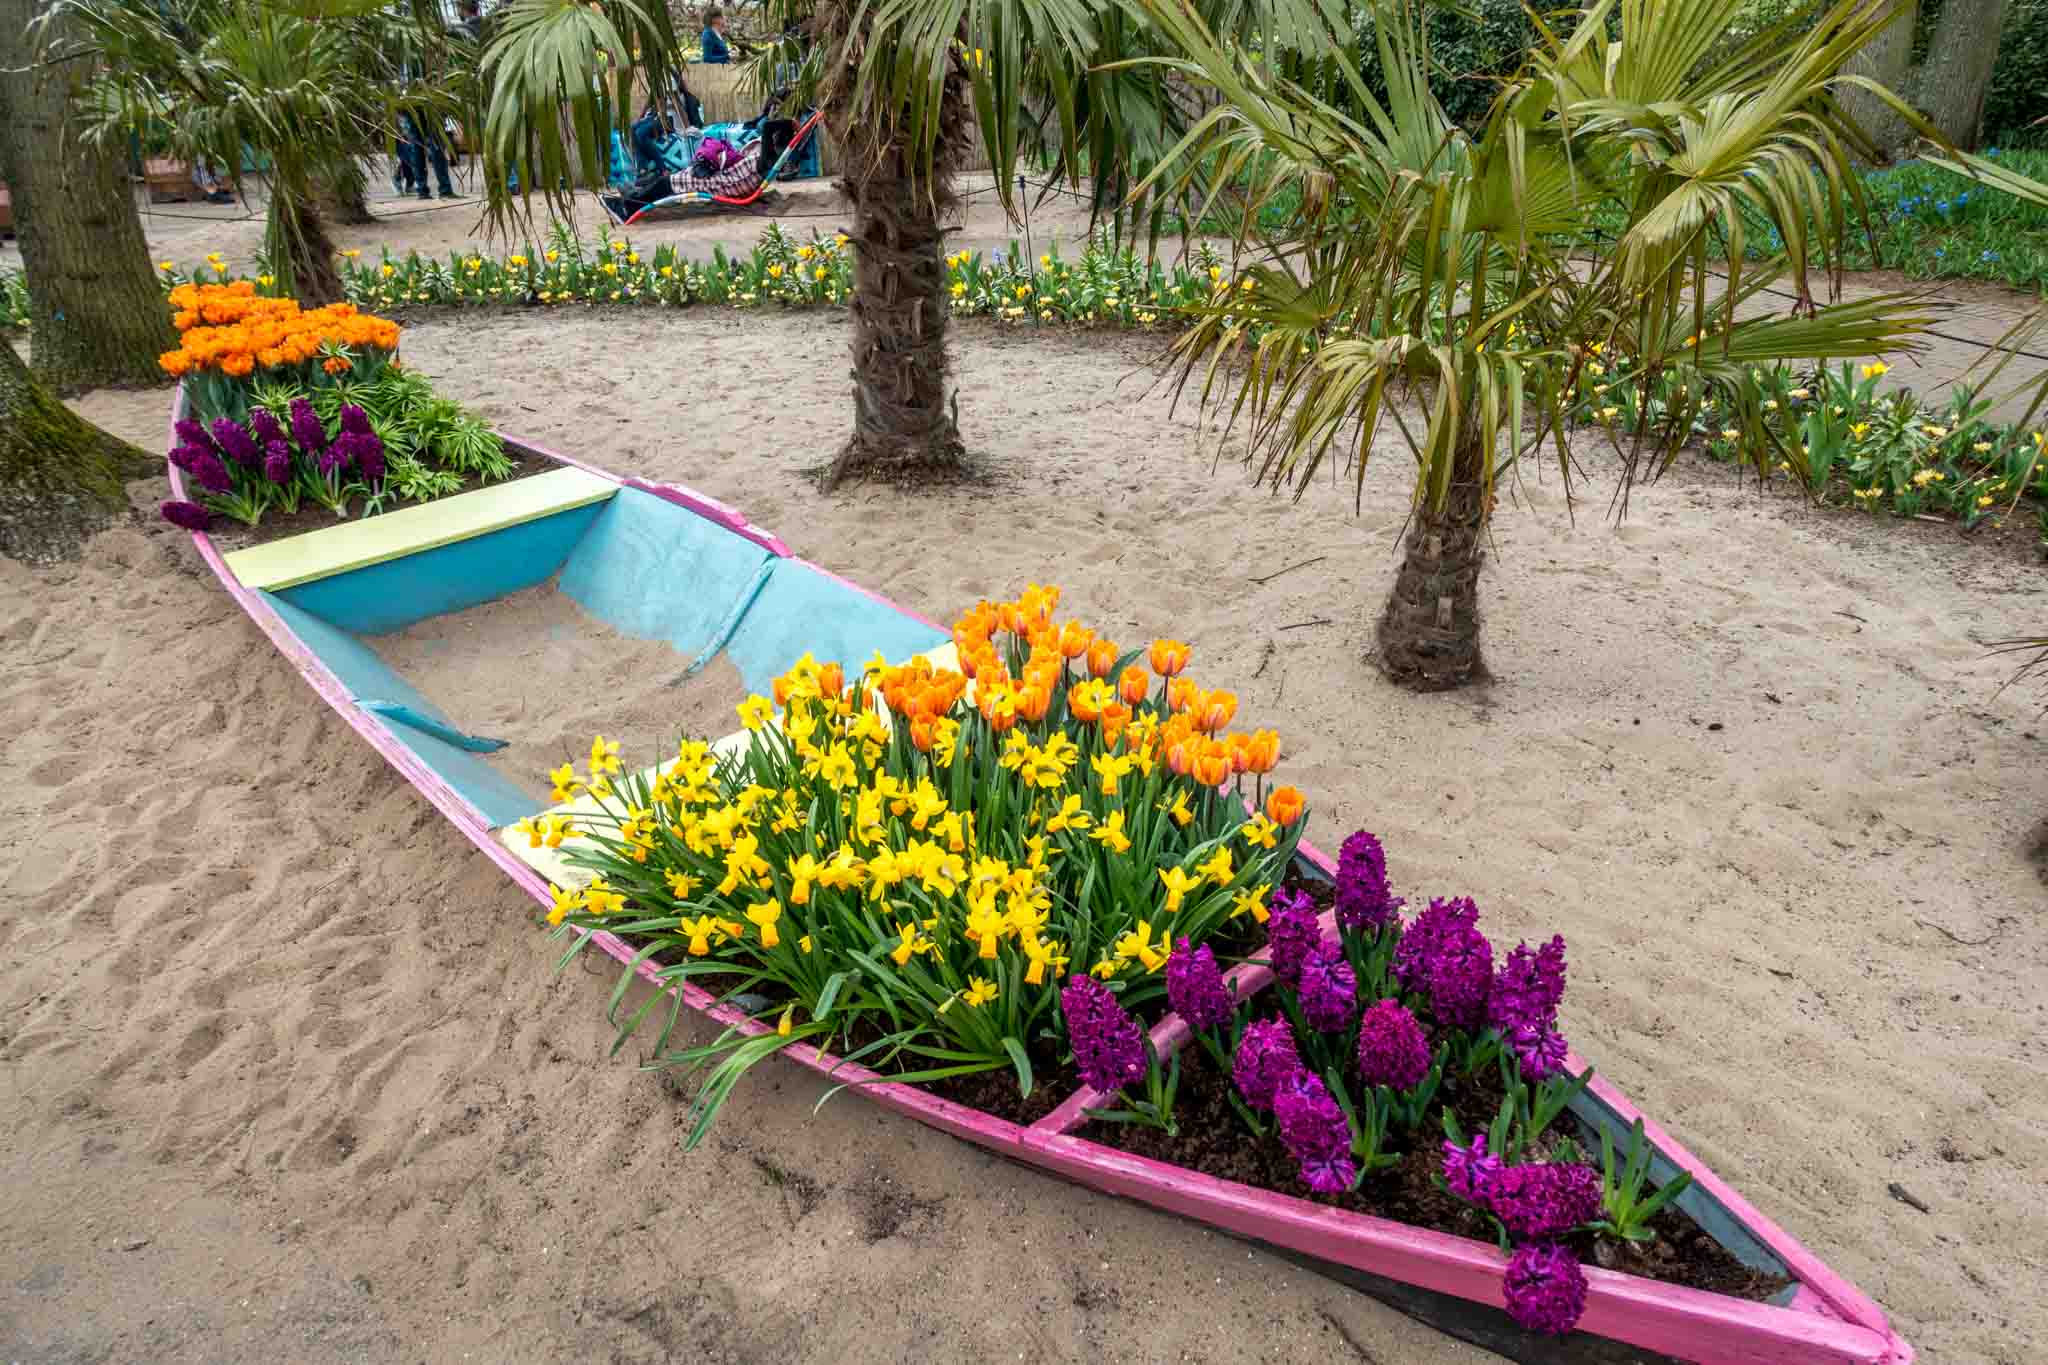
{"type": "Polygon", "coordinates": [[[895,481],[961,473],[961,428],[946,393],[946,235],[958,203],[954,174],[967,153],[971,111],[958,55],[940,104],[930,162],[911,147],[905,111],[858,80],[866,33],[854,6],[819,12],[831,53],[819,90],[840,147],[840,192],[854,205],[854,432],[825,473],[825,487],[862,475],[895,481]],[[846,25],[834,31],[834,25],[846,25]]]}

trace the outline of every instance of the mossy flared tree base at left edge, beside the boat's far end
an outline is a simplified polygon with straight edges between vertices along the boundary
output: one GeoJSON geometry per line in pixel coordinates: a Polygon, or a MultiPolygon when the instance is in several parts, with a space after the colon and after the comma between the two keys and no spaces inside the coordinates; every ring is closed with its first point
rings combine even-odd
{"type": "Polygon", "coordinates": [[[123,485],[152,469],[141,450],[51,397],[0,342],[0,555],[70,559],[127,514],[123,485]]]}

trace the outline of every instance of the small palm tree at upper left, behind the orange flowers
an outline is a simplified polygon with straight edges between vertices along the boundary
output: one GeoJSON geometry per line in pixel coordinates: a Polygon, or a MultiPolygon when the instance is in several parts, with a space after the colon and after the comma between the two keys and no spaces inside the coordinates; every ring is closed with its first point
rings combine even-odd
{"type": "Polygon", "coordinates": [[[449,82],[399,90],[403,57],[444,43],[432,4],[381,0],[57,0],[98,49],[88,133],[125,143],[160,131],[176,156],[240,174],[268,160],[264,254],[301,303],[342,297],[319,182],[383,145],[399,102],[432,119],[463,108],[449,82]]]}

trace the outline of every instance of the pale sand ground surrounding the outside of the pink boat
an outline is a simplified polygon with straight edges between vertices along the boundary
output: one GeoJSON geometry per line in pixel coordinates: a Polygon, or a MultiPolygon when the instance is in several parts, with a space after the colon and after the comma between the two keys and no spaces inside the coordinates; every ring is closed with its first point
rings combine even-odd
{"type": "MultiPolygon", "coordinates": [[[[1249,491],[1133,344],[967,327],[987,483],[825,499],[842,327],[551,313],[406,348],[502,428],[934,616],[1036,579],[1192,641],[1280,729],[1317,839],[1368,825],[1407,896],[1563,931],[1579,1050],[1923,1359],[2048,1355],[2048,718],[1985,657],[2040,628],[2038,561],[1714,469],[1616,528],[1587,452],[1577,520],[1530,471],[1495,524],[1495,681],[1415,698],[1362,659],[1399,448],[1362,516],[1249,491]],[[770,401],[702,428],[707,364],[770,401]]],[[[84,401],[152,442],[164,405],[84,401]]],[[[160,524],[0,563],[0,641],[6,1359],[1487,1359],[858,1101],[809,1117],[793,1068],[682,1156],[672,1089],[606,1056],[610,972],[557,976],[160,524]]]]}

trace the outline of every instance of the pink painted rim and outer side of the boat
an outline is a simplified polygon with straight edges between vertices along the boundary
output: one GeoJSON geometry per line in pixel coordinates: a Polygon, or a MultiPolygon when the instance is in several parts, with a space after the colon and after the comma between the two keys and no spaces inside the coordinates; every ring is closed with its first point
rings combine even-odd
{"type": "MultiPolygon", "coordinates": [[[[182,391],[178,409],[172,415],[176,417],[180,411],[182,391]]],[[[903,620],[942,630],[928,618],[903,612],[885,598],[797,559],[778,536],[750,524],[741,512],[713,497],[678,485],[621,479],[524,442],[508,440],[508,444],[524,454],[541,456],[567,469],[582,469],[610,481],[618,489],[651,495],[680,514],[717,526],[754,551],[764,551],[774,561],[840,583],[864,600],[897,612],[903,620]]],[[[176,467],[170,469],[170,481],[176,495],[186,495],[176,467]]],[[[547,880],[498,839],[494,821],[477,802],[444,780],[414,747],[408,747],[385,716],[367,710],[362,698],[350,694],[336,669],[301,639],[285,614],[272,606],[272,600],[262,591],[246,587],[236,577],[236,571],[205,532],[193,532],[193,542],[207,567],[219,577],[223,589],[270,636],[279,653],[299,669],[313,692],[514,884],[526,890],[539,905],[549,905],[547,880]]],[[[1305,855],[1327,874],[1329,860],[1313,849],[1305,849],[1305,855]]],[[[610,954],[621,964],[635,962],[633,948],[614,935],[598,931],[590,937],[594,948],[610,954]]],[[[653,964],[639,962],[635,970],[651,986],[672,988],[657,980],[653,964]]],[[[1266,980],[1260,968],[1239,968],[1235,976],[1241,990],[1253,990],[1266,980]]],[[[696,986],[684,984],[680,986],[680,995],[684,1005],[719,1023],[750,1033],[764,1031],[764,1025],[754,1023],[727,1005],[719,1005],[696,986]]],[[[1176,1019],[1163,1021],[1153,1031],[1155,1046],[1163,1050],[1178,1048],[1184,1040],[1186,1029],[1176,1019]]],[[[799,1066],[829,1074],[834,1083],[856,1083],[854,1089],[868,1101],[930,1124],[963,1142],[973,1142],[1092,1189],[1137,1199],[1247,1242],[1268,1246],[1298,1265],[1370,1293],[1452,1336],[1483,1345],[1516,1361],[1530,1361],[1532,1365],[1561,1365],[1565,1361],[1606,1365],[1610,1361],[1645,1359],[1757,1365],[1765,1361],[1905,1365],[1913,1359],[1913,1349],[1890,1328],[1884,1312],[1872,1300],[1835,1275],[1790,1234],[1757,1214],[1649,1119],[1645,1119],[1645,1134],[1659,1152],[1659,1164],[1669,1171],[1681,1169],[1694,1175],[1694,1191],[1688,1191],[1688,1197],[1698,1199],[1700,1207],[1690,1207],[1688,1212],[1722,1238],[1724,1244],[1731,1244],[1729,1236],[1739,1238],[1757,1254],[1767,1257],[1774,1269],[1782,1269],[1796,1281],[1784,1304],[1755,1304],[1587,1267],[1587,1310],[1579,1330],[1559,1340],[1538,1338],[1516,1328],[1501,1308],[1501,1271],[1505,1261],[1495,1246],[1219,1181],[1090,1142],[1075,1136],[1075,1130],[1085,1124],[1083,1109],[1096,1103],[1096,1097],[1085,1089],[1071,1095],[1044,1119],[1030,1128],[1020,1128],[989,1113],[944,1101],[918,1087],[885,1081],[858,1064],[840,1062],[811,1048],[799,1046],[784,1052],[784,1056],[799,1066]],[[1702,1218],[1700,1209],[1706,1209],[1708,1216],[1702,1218]],[[1710,1218],[1724,1220],[1722,1228],[1726,1236],[1710,1218]]],[[[1585,1062],[1573,1058],[1571,1066],[1579,1070],[1585,1062]]],[[[1599,1121],[1602,1126],[1620,1124],[1626,1130],[1636,1117],[1638,1111],[1618,1091],[1599,1078],[1593,1081],[1587,1091],[1587,1103],[1581,1109],[1581,1119],[1599,1121]]]]}

